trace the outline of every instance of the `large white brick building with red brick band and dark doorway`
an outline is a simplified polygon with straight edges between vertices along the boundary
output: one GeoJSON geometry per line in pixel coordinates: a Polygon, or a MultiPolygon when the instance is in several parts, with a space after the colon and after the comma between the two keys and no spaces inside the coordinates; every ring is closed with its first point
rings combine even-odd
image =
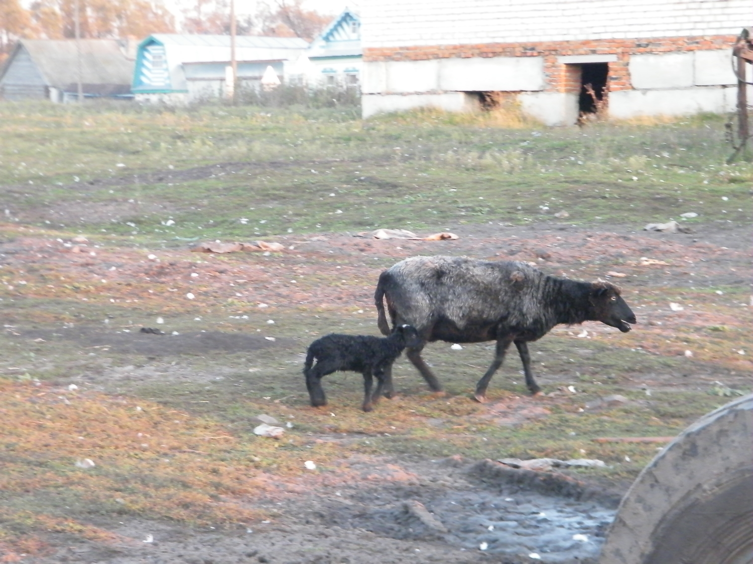
{"type": "Polygon", "coordinates": [[[363,115],[505,98],[552,126],[597,107],[732,111],[731,48],[751,19],[749,0],[364,0],[363,115]]]}

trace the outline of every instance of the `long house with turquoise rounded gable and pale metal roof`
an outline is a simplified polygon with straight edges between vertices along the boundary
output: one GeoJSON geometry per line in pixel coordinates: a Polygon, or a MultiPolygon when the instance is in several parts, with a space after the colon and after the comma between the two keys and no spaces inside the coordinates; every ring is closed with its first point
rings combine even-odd
{"type": "MultiPolygon", "coordinates": [[[[238,35],[236,60],[241,88],[258,88],[267,67],[287,74],[309,47],[300,38],[238,35]]],[[[154,34],[139,44],[133,94],[136,102],[184,104],[217,98],[232,83],[229,35],[154,34]]],[[[269,73],[267,72],[267,76],[269,73]]]]}

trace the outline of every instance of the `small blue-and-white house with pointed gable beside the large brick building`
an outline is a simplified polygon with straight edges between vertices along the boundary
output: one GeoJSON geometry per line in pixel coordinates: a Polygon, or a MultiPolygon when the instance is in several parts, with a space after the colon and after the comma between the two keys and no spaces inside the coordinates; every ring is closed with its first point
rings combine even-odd
{"type": "Polygon", "coordinates": [[[296,70],[309,86],[357,86],[361,75],[361,19],[346,8],[301,56],[296,70]]]}

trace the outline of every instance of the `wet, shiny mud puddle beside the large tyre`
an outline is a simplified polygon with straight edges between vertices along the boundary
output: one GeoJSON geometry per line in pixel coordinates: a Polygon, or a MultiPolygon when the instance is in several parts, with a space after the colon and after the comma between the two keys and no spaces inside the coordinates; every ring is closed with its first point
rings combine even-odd
{"type": "Polygon", "coordinates": [[[501,465],[484,461],[456,472],[429,472],[428,484],[392,484],[389,492],[358,493],[351,498],[358,503],[331,504],[320,518],[328,528],[366,529],[401,541],[441,541],[477,553],[504,554],[514,562],[528,561],[531,553],[538,553],[542,562],[588,562],[598,556],[618,493],[566,476],[496,472],[496,466],[501,465]],[[415,511],[416,505],[421,511],[415,511]],[[428,514],[422,516],[424,508],[428,514]]]}

